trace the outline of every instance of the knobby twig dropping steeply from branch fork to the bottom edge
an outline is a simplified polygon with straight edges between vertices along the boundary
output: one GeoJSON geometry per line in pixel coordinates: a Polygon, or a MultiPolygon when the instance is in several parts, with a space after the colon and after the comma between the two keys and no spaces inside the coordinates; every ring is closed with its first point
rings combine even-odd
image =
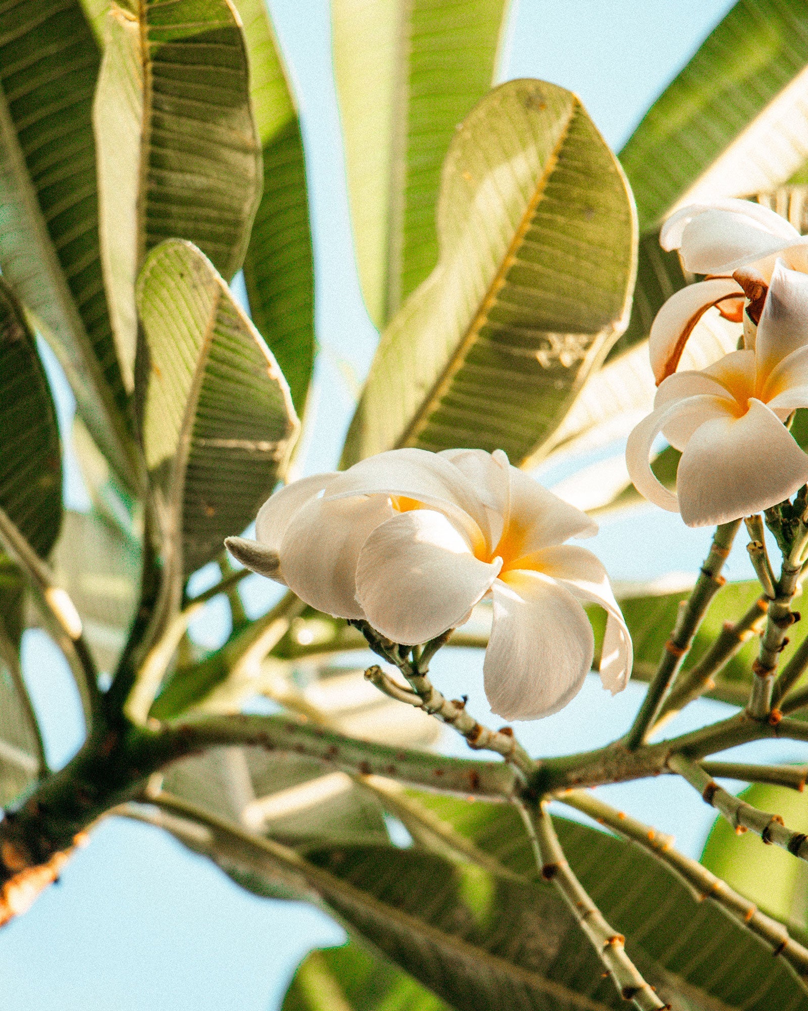
{"type": "Polygon", "coordinates": [[[539,805],[535,817],[524,805],[517,803],[516,807],[522,816],[541,877],[551,882],[561,893],[623,1000],[633,1001],[640,1011],[670,1008],[670,1004],[664,1004],[650,984],[642,979],[626,954],[625,938],[608,924],[567,862],[545,804],[539,805]]]}

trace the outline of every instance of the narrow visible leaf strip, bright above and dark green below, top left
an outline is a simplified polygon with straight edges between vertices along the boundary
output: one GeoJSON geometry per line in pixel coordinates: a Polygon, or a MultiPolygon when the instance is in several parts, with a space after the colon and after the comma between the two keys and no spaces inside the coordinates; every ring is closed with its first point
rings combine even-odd
{"type": "Polygon", "coordinates": [[[264,154],[264,194],[244,258],[252,321],[302,416],[314,364],[314,263],[300,119],[264,0],[237,0],[264,154]]]}

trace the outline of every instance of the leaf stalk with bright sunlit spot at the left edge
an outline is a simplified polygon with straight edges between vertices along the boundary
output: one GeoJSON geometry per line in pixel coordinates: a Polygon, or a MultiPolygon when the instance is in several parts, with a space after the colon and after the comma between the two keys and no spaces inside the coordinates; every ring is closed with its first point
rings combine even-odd
{"type": "Polygon", "coordinates": [[[8,514],[0,509],[0,544],[22,570],[33,590],[45,628],[65,654],[82,699],[88,733],[103,726],[105,710],[98,671],[84,639],[82,620],[67,590],[58,586],[49,567],[28,544],[8,514]]]}

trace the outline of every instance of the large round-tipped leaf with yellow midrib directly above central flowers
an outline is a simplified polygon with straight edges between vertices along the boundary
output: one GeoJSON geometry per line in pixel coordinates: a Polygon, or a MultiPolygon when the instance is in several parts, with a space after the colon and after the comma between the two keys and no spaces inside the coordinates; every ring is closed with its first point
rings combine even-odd
{"type": "Polygon", "coordinates": [[[344,465],[396,446],[518,464],[625,326],[631,198],[571,92],[510,81],[485,98],[451,143],[437,214],[440,261],[382,336],[344,465]]]}

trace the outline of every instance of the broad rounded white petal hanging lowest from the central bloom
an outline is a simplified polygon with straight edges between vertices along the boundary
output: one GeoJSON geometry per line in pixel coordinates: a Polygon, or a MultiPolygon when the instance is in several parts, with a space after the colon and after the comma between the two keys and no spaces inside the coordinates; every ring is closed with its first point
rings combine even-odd
{"type": "Polygon", "coordinates": [[[491,709],[535,720],[563,709],[592,667],[595,640],[569,589],[539,572],[509,571],[493,586],[494,624],[483,666],[491,709]]]}

